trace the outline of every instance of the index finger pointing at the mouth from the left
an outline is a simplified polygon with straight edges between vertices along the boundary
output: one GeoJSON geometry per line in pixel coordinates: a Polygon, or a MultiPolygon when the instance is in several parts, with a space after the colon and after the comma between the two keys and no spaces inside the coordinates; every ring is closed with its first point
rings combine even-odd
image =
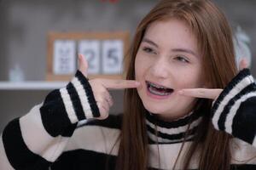
{"type": "Polygon", "coordinates": [[[138,88],[140,86],[140,82],[135,80],[102,79],[102,85],[108,89],[138,88]]]}

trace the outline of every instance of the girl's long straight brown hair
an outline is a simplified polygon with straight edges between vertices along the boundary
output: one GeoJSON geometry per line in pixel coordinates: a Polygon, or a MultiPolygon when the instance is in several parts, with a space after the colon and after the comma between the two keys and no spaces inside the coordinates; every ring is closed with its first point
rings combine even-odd
{"type": "MultiPolygon", "coordinates": [[[[203,59],[207,88],[224,88],[236,75],[235,54],[230,26],[224,14],[208,0],[162,0],[141,21],[126,58],[126,79],[135,79],[135,57],[144,33],[156,20],[176,18],[186,22],[197,37],[203,59]]],[[[199,169],[230,169],[230,136],[212,127],[209,99],[200,99],[203,121],[194,142],[187,150],[183,169],[189,168],[191,157],[199,150],[199,169]]],[[[148,137],[145,108],[137,89],[125,89],[123,126],[120,133],[117,169],[144,170],[148,167],[148,137]]],[[[174,167],[173,167],[174,168],[174,167]]]]}

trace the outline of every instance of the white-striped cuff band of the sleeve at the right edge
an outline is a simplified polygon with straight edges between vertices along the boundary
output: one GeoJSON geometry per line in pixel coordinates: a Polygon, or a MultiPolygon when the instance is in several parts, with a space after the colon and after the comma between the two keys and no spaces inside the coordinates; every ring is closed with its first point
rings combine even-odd
{"type": "Polygon", "coordinates": [[[255,96],[255,83],[248,69],[240,71],[224,88],[212,105],[212,124],[218,130],[233,134],[241,103],[255,96]]]}

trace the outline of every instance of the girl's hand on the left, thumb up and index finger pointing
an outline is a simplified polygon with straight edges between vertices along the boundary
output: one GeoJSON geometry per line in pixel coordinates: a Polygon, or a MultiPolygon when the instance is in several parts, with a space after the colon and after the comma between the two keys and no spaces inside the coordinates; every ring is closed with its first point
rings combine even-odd
{"type": "MultiPolygon", "coordinates": [[[[84,77],[88,76],[87,70],[88,63],[84,55],[79,54],[79,71],[83,73],[84,77]]],[[[140,82],[121,79],[96,78],[90,80],[89,83],[101,115],[97,119],[101,120],[108,117],[109,109],[113,105],[113,99],[108,92],[109,89],[138,88],[140,86],[140,82]]]]}

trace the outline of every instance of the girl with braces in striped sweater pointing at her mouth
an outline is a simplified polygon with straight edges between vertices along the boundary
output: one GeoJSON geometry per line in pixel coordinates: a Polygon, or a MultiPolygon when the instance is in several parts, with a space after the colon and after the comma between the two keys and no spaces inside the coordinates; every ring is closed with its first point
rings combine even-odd
{"type": "Polygon", "coordinates": [[[256,86],[211,1],[160,1],[126,64],[126,80],[88,80],[79,55],[67,87],[5,127],[0,169],[256,169],[256,86]],[[108,116],[117,88],[124,112],[108,116]]]}

